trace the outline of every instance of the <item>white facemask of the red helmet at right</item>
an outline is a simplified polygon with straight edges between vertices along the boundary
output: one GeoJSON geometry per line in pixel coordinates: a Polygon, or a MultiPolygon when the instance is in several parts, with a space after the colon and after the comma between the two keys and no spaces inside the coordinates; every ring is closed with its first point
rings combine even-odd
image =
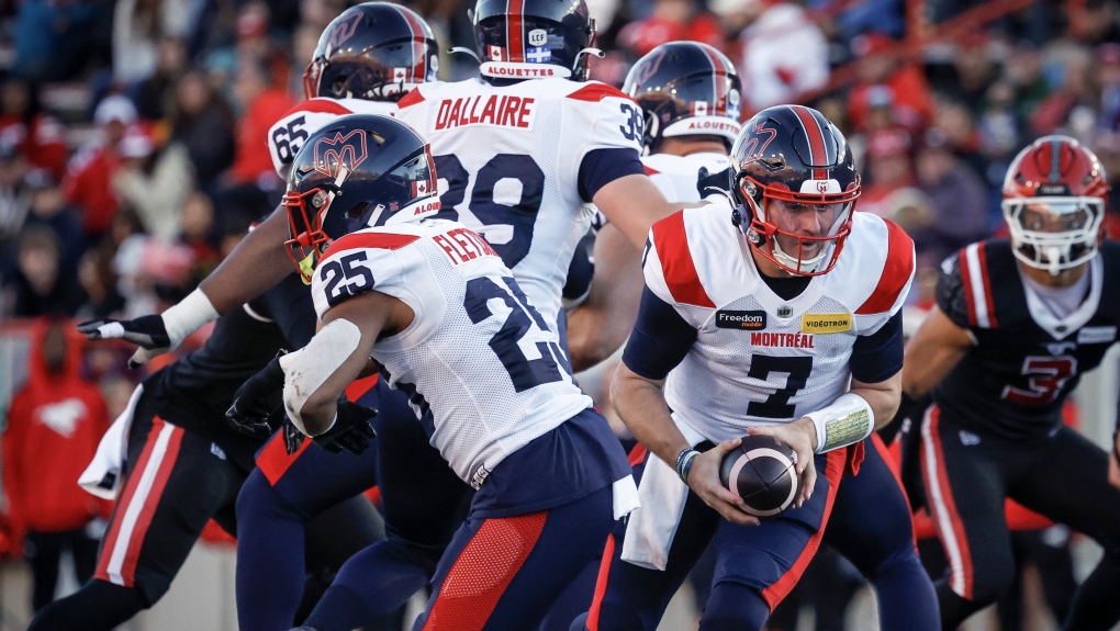
{"type": "Polygon", "coordinates": [[[1016,258],[1058,275],[1096,255],[1104,220],[1099,197],[1018,197],[1001,204],[1016,258]]]}

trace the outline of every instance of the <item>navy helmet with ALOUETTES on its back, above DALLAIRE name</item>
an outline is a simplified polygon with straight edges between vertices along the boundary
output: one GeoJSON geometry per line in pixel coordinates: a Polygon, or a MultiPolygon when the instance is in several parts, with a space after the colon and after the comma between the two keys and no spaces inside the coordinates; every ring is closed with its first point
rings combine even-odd
{"type": "Polygon", "coordinates": [[[587,56],[603,55],[584,0],[478,0],[470,20],[485,77],[587,81],[587,56]]]}

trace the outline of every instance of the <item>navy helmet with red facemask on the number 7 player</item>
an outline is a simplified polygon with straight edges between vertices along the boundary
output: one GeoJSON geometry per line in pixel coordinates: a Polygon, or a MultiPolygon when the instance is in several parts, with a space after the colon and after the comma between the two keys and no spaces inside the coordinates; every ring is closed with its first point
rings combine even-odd
{"type": "Polygon", "coordinates": [[[768,107],[743,125],[730,162],[731,220],[750,247],[791,274],[831,271],[860,194],[840,130],[811,107],[768,107]],[[797,214],[820,229],[795,226],[797,214]]]}

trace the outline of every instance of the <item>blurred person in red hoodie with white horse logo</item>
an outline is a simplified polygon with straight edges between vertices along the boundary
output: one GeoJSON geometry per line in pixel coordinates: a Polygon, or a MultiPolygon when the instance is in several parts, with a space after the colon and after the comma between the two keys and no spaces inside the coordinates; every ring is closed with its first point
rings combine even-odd
{"type": "Polygon", "coordinates": [[[15,538],[35,580],[35,611],[54,600],[63,549],[80,582],[93,576],[102,500],[77,486],[109,427],[96,386],[78,376],[81,340],[69,320],[36,322],[27,385],[8,409],[3,433],[3,491],[15,538]]]}

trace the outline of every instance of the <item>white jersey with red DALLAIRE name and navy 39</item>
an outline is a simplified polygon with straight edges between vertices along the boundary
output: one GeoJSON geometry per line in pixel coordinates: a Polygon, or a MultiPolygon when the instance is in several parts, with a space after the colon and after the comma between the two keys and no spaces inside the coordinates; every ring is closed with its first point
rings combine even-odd
{"type": "Polygon", "coordinates": [[[594,215],[580,164],[597,149],[636,156],[641,109],[605,84],[561,78],[427,83],[399,107],[431,144],[445,210],[486,237],[551,326],[594,215]]]}

